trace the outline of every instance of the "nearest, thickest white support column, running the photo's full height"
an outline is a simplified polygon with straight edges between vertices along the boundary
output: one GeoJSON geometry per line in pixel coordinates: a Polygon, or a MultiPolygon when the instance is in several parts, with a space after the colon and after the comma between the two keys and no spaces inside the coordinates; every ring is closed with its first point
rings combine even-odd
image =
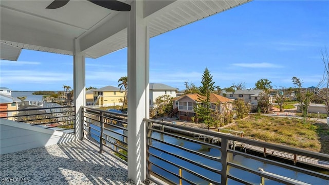
{"type": "Polygon", "coordinates": [[[149,118],[149,31],[143,1],[133,1],[128,23],[128,178],[146,178],[146,134],[149,118]]]}

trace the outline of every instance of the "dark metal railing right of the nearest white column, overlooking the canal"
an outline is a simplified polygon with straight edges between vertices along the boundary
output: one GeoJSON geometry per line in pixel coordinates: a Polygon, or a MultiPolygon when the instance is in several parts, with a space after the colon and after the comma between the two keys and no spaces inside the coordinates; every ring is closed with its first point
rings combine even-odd
{"type": "Polygon", "coordinates": [[[329,174],[325,174],[329,155],[168,122],[144,121],[150,180],[169,184],[329,183],[329,174]],[[207,140],[193,138],[195,134],[207,136],[207,140]],[[250,146],[263,151],[253,151],[250,146]],[[316,163],[307,164],[308,160],[316,163]]]}

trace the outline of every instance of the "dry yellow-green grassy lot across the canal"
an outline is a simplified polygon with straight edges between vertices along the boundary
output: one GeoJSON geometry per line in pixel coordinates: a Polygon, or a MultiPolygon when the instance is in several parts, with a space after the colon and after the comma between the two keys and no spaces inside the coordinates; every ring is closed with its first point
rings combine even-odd
{"type": "Polygon", "coordinates": [[[249,115],[235,122],[225,128],[243,131],[246,138],[329,154],[326,146],[329,144],[329,128],[326,124],[260,115],[249,115]]]}

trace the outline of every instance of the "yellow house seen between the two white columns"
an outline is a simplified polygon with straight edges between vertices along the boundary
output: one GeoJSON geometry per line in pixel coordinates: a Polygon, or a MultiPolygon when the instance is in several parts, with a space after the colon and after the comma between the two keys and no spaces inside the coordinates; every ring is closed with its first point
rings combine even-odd
{"type": "Polygon", "coordinates": [[[115,106],[122,105],[124,90],[118,87],[106,86],[94,90],[94,105],[115,106]]]}

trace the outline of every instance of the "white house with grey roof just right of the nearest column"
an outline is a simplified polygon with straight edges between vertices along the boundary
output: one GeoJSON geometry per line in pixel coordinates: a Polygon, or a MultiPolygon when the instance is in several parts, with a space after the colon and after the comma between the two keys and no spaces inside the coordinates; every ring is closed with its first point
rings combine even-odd
{"type": "Polygon", "coordinates": [[[153,107],[155,100],[159,96],[169,95],[176,97],[177,89],[166,84],[150,83],[150,107],[153,107]]]}

